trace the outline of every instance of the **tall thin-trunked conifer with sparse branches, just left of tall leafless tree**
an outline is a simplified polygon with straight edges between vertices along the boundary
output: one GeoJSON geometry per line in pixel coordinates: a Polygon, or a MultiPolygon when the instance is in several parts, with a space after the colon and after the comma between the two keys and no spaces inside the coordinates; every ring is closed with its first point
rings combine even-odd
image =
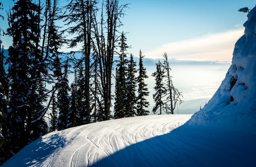
{"type": "Polygon", "coordinates": [[[84,85],[80,88],[84,91],[82,92],[85,100],[83,101],[84,106],[82,107],[83,112],[80,114],[81,124],[90,123],[90,53],[91,53],[91,33],[93,24],[93,12],[96,11],[96,3],[94,0],[71,0],[66,6],[68,12],[63,16],[67,25],[74,24],[74,26],[69,26],[67,29],[71,35],[75,35],[73,39],[70,40],[70,47],[73,48],[77,46],[77,43],[82,44],[83,60],[85,62],[84,67],[84,85]]]}

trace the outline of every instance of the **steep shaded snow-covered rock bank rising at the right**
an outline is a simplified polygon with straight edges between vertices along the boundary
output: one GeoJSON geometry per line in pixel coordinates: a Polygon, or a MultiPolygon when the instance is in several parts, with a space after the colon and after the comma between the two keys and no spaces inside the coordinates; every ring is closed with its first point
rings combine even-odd
{"type": "Polygon", "coordinates": [[[256,7],[247,17],[244,35],[235,44],[232,65],[225,79],[188,124],[236,131],[254,129],[256,133],[256,7]]]}

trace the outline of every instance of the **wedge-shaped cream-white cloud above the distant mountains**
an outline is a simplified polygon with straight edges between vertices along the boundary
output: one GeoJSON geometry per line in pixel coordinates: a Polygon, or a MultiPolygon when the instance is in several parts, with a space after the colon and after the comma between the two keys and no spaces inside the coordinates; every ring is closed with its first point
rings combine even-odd
{"type": "Polygon", "coordinates": [[[244,28],[240,28],[172,42],[145,52],[144,55],[148,58],[158,58],[167,52],[169,59],[231,62],[235,42],[243,35],[243,32],[244,28]]]}

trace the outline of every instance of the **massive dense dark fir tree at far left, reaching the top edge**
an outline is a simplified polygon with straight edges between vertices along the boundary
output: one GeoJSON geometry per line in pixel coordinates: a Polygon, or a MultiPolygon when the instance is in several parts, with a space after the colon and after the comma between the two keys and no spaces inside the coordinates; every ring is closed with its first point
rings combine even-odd
{"type": "MultiPolygon", "coordinates": [[[[39,1],[40,2],[40,1],[39,1]]],[[[39,52],[40,3],[32,0],[18,0],[8,13],[7,34],[13,38],[8,49],[8,75],[10,78],[11,143],[14,153],[48,132],[44,120],[43,102],[46,101],[45,81],[47,73],[39,52]]]]}

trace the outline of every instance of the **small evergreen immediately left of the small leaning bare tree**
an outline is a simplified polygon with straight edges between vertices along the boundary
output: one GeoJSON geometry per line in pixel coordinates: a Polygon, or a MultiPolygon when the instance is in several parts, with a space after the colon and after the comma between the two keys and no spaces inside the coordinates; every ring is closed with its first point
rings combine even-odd
{"type": "Polygon", "coordinates": [[[161,115],[165,107],[163,102],[163,96],[166,92],[166,89],[163,83],[164,71],[162,69],[162,63],[160,62],[160,60],[158,61],[158,63],[156,63],[156,72],[152,73],[152,76],[155,77],[154,90],[156,91],[156,93],[153,94],[153,99],[156,104],[153,107],[152,112],[154,114],[159,112],[159,114],[161,115]]]}

